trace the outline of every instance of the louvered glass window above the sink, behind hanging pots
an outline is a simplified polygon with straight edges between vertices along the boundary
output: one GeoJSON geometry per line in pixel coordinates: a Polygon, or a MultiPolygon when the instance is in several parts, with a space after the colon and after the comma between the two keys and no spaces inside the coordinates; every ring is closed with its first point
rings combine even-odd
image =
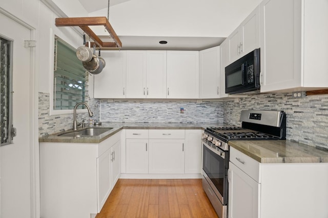
{"type": "Polygon", "coordinates": [[[55,36],[53,109],[73,109],[76,103],[89,100],[88,71],[76,57],[76,50],[55,36]]]}

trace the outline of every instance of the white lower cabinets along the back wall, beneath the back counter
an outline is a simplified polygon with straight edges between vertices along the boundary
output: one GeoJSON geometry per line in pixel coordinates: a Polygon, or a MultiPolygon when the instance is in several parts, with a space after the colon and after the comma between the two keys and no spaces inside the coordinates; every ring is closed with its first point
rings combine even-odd
{"type": "Polygon", "coordinates": [[[156,175],[162,175],[160,178],[167,178],[165,175],[172,178],[200,178],[201,132],[126,130],[126,174],[142,174],[142,178],[155,178],[156,175]]]}

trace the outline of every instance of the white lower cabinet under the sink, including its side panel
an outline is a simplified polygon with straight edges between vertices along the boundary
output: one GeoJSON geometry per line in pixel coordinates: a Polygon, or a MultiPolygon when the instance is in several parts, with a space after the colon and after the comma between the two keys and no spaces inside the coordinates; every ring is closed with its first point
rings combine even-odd
{"type": "Polygon", "coordinates": [[[40,143],[41,217],[90,218],[120,176],[121,133],[101,143],[40,143]]]}

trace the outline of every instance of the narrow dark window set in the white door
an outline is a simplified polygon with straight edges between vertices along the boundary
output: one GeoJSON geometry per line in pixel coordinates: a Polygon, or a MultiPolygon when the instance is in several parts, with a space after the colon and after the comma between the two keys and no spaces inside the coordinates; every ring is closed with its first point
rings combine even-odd
{"type": "Polygon", "coordinates": [[[12,41],[0,37],[1,146],[12,142],[12,41]]]}

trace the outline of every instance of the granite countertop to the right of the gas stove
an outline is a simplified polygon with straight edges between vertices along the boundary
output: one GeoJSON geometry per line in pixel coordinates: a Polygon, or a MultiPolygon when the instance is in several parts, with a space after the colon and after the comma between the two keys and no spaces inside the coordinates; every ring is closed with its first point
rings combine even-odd
{"type": "Polygon", "coordinates": [[[237,140],[229,146],[260,163],[328,163],[328,151],[290,140],[237,140]]]}

